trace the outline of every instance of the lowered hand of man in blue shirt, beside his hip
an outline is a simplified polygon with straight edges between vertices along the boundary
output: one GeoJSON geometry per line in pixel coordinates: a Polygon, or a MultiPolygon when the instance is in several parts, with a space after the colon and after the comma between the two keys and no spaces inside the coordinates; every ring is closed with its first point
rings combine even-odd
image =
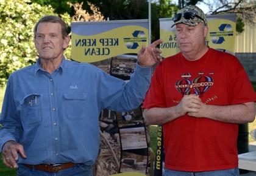
{"type": "Polygon", "coordinates": [[[7,141],[2,147],[2,161],[9,168],[18,168],[18,152],[21,157],[27,158],[23,146],[15,141],[7,141]]]}

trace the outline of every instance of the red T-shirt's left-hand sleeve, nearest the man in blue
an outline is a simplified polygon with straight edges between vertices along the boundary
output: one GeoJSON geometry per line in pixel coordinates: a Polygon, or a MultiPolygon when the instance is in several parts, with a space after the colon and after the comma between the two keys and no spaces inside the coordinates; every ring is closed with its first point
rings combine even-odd
{"type": "Polygon", "coordinates": [[[153,73],[151,86],[149,87],[143,103],[144,109],[149,109],[151,107],[166,107],[162,70],[163,64],[159,63],[153,73]]]}

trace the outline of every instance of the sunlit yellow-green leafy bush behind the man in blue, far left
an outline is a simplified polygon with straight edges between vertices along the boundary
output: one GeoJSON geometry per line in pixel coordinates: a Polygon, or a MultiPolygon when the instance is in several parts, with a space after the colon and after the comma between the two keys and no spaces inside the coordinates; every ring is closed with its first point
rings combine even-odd
{"type": "Polygon", "coordinates": [[[51,6],[42,7],[29,0],[0,0],[0,86],[13,71],[35,63],[33,30],[44,15],[56,14],[51,6]]]}

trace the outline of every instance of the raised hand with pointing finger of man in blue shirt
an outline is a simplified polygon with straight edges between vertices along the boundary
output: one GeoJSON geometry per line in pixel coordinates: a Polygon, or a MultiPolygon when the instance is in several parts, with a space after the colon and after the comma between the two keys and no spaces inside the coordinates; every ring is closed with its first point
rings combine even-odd
{"type": "Polygon", "coordinates": [[[156,48],[158,44],[163,42],[162,39],[152,42],[148,47],[143,46],[138,52],[138,64],[143,67],[151,67],[159,60],[162,59],[160,56],[161,50],[156,48]]]}

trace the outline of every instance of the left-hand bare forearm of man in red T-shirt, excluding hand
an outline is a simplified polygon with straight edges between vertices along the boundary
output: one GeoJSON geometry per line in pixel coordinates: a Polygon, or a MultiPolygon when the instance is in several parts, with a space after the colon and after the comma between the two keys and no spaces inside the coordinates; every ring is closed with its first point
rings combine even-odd
{"type": "Polygon", "coordinates": [[[146,125],[165,124],[180,117],[179,113],[177,113],[176,106],[144,109],[143,116],[146,120],[146,125]]]}

